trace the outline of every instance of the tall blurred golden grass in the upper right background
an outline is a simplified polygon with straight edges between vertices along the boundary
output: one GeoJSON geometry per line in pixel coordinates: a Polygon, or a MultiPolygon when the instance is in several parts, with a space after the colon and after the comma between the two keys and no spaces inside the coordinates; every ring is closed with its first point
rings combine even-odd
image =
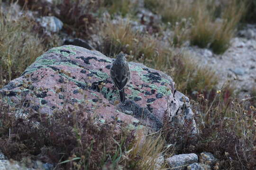
{"type": "MultiPolygon", "coordinates": [[[[145,3],[152,8],[151,0],[146,0],[145,3]]],[[[160,0],[158,3],[153,11],[157,11],[165,23],[171,23],[175,34],[174,44],[186,39],[190,40],[192,45],[210,47],[216,54],[221,54],[229,48],[229,42],[246,12],[246,1],[237,0],[220,4],[215,0],[160,0]],[[191,20],[191,28],[180,27],[179,23],[184,19],[191,20]],[[184,36],[184,31],[180,33],[181,29],[186,29],[188,34],[184,36]],[[179,38],[181,35],[183,37],[179,38]]]]}

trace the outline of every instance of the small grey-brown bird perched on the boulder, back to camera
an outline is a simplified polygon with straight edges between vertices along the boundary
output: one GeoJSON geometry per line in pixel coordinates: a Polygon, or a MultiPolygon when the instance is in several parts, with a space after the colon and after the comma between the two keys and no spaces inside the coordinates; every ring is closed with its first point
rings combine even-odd
{"type": "Polygon", "coordinates": [[[128,62],[126,61],[126,56],[127,54],[120,52],[110,68],[110,76],[112,82],[119,90],[120,101],[122,103],[125,102],[124,87],[129,83],[131,79],[130,69],[128,62]]]}

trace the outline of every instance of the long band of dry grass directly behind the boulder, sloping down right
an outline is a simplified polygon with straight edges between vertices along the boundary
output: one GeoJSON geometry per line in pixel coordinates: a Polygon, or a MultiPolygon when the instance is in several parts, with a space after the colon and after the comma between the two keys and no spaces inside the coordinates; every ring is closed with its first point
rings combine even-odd
{"type": "Polygon", "coordinates": [[[107,22],[101,36],[105,37],[103,53],[115,56],[124,51],[129,54],[129,60],[170,74],[175,82],[179,82],[176,88],[180,91],[190,94],[192,91],[210,90],[217,84],[217,76],[208,68],[197,67],[190,54],[168,49],[157,37],[133,30],[128,22],[107,22]]]}

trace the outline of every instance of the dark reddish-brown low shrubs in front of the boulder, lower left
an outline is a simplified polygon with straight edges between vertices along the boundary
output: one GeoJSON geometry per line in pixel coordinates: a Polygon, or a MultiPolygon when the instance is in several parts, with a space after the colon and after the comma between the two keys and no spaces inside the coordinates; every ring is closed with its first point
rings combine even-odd
{"type": "Polygon", "coordinates": [[[133,141],[133,131],[126,124],[117,128],[116,120],[101,123],[90,114],[84,118],[84,111],[77,105],[52,116],[31,113],[27,119],[16,118],[0,102],[0,150],[9,159],[30,157],[52,163],[58,170],[114,169],[132,161],[122,155],[133,141]]]}

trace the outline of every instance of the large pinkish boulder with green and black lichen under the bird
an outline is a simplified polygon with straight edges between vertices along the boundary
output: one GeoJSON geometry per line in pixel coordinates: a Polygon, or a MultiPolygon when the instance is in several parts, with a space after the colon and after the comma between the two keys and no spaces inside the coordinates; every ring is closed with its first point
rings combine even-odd
{"type": "Polygon", "coordinates": [[[38,57],[0,93],[10,106],[22,103],[24,108],[16,110],[22,116],[29,111],[52,114],[80,103],[86,107],[85,117],[97,113],[101,121],[117,119],[134,127],[161,128],[167,108],[170,123],[194,123],[189,99],[174,89],[172,78],[139,63],[129,63],[132,79],[125,88],[127,100],[118,103],[119,93],[110,78],[113,60],[78,46],[56,47],[38,57]]]}

